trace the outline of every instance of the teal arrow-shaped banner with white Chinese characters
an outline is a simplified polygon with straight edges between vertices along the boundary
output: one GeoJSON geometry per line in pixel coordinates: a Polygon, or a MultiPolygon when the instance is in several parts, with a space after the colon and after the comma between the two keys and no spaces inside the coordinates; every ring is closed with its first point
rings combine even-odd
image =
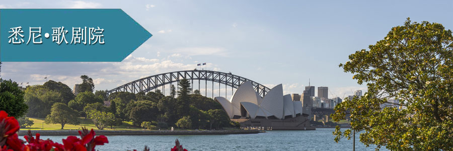
{"type": "Polygon", "coordinates": [[[151,36],[121,9],[0,9],[0,61],[121,61],[151,36]]]}

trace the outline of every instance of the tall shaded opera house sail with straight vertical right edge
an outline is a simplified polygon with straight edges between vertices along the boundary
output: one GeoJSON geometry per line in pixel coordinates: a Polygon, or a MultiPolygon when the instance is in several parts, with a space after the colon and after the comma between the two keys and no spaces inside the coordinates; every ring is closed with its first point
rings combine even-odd
{"type": "Polygon", "coordinates": [[[269,111],[278,119],[283,119],[283,87],[277,85],[264,96],[260,107],[269,111]]]}

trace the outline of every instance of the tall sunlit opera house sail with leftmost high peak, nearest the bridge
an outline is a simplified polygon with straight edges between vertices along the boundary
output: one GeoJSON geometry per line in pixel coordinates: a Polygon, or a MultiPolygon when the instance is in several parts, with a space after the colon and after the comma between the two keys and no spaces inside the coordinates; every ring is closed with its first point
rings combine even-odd
{"type": "MultiPolygon", "coordinates": [[[[250,81],[244,82],[241,86],[239,86],[238,90],[233,94],[231,97],[231,104],[237,107],[238,109],[241,108],[241,102],[250,102],[253,104],[258,105],[258,99],[255,95],[255,89],[253,89],[253,85],[250,81]]],[[[234,114],[241,114],[236,113],[234,114]]]]}

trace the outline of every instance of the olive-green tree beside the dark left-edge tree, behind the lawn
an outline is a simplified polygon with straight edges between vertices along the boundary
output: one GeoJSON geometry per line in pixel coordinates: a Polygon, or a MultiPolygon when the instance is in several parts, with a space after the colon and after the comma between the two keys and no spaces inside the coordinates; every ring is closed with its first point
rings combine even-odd
{"type": "Polygon", "coordinates": [[[30,86],[25,90],[25,103],[29,106],[27,116],[45,118],[54,103],[64,103],[61,94],[45,86],[30,86]]]}

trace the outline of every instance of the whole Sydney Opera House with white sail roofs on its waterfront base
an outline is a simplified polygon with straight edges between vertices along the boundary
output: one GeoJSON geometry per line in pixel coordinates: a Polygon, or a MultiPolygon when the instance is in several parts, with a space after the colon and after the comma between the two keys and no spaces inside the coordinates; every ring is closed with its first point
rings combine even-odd
{"type": "Polygon", "coordinates": [[[310,126],[309,103],[293,101],[291,96],[283,95],[282,85],[272,88],[262,98],[251,82],[244,82],[230,100],[215,97],[223,110],[241,127],[266,127],[273,130],[314,130],[310,126]]]}

